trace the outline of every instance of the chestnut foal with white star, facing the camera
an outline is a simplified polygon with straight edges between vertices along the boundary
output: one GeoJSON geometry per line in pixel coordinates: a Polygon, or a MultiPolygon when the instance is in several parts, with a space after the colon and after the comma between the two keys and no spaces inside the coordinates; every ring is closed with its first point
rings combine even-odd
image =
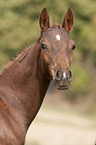
{"type": "Polygon", "coordinates": [[[68,33],[73,22],[69,8],[62,26],[50,26],[44,8],[39,18],[41,36],[0,74],[0,145],[24,144],[51,80],[57,89],[69,88],[75,43],[68,33]]]}

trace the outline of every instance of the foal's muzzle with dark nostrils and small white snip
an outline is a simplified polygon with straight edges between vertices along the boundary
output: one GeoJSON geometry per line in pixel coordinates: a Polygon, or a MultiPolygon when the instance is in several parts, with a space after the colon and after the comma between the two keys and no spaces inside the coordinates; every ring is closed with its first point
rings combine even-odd
{"type": "Polygon", "coordinates": [[[70,82],[73,78],[72,71],[57,70],[54,74],[54,83],[57,89],[66,90],[70,86],[70,82]]]}

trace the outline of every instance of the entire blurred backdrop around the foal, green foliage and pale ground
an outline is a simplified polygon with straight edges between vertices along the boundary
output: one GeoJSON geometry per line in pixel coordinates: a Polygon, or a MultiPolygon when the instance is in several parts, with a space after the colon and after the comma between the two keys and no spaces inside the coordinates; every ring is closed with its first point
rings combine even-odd
{"type": "Polygon", "coordinates": [[[38,39],[38,18],[43,7],[51,23],[62,24],[69,7],[74,12],[70,33],[77,45],[71,66],[73,81],[67,91],[50,85],[26,145],[91,145],[96,140],[96,0],[0,0],[0,70],[38,39]],[[74,116],[74,112],[83,117],[74,116]],[[86,116],[92,120],[86,120],[86,116]]]}

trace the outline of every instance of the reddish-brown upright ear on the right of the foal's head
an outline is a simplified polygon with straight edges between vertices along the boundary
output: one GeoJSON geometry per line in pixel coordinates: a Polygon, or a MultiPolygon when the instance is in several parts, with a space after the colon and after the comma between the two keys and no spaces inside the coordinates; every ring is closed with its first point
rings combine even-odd
{"type": "Polygon", "coordinates": [[[74,14],[73,11],[69,8],[65,15],[62,27],[69,33],[73,28],[73,24],[74,24],[74,14]]]}

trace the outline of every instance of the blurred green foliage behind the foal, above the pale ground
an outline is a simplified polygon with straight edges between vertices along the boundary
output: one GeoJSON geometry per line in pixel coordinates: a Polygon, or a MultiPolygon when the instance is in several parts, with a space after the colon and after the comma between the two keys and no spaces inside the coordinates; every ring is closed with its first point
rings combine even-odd
{"type": "MultiPolygon", "coordinates": [[[[63,100],[82,104],[96,112],[96,1],[95,0],[0,0],[0,70],[40,36],[38,18],[47,7],[51,23],[62,24],[67,9],[75,16],[71,38],[77,48],[71,69],[74,77],[63,100]]],[[[53,91],[49,89],[49,91],[53,91]]],[[[81,107],[82,108],[82,107],[81,107]]]]}

